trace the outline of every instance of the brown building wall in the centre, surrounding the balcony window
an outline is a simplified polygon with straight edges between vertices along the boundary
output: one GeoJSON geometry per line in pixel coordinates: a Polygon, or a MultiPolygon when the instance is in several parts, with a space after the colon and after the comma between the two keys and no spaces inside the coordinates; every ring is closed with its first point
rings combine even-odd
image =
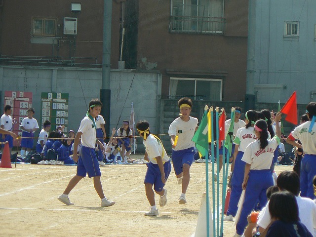
{"type": "Polygon", "coordinates": [[[162,95],[169,95],[170,77],[221,77],[223,100],[243,100],[247,6],[243,0],[225,1],[224,35],[179,34],[169,32],[170,0],[139,0],[138,67],[145,68],[142,58],[158,63],[157,69],[162,72],[162,95]],[[238,3],[240,11],[234,11],[238,3]],[[170,75],[166,70],[177,73],[170,75]]]}

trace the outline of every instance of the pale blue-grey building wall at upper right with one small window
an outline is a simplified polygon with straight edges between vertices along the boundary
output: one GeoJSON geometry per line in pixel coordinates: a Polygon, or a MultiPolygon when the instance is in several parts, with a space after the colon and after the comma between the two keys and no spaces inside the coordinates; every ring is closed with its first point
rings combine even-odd
{"type": "Polygon", "coordinates": [[[285,102],[295,90],[298,103],[314,100],[315,9],[313,0],[257,1],[255,84],[282,85],[280,90],[272,89],[277,95],[260,102],[277,102],[271,98],[285,102]],[[284,21],[299,22],[299,38],[284,37],[284,21]]]}

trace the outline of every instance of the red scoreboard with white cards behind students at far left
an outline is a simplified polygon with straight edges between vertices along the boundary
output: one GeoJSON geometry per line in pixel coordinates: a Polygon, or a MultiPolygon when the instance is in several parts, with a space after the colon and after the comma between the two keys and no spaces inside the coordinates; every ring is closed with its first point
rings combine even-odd
{"type": "MultiPolygon", "coordinates": [[[[12,107],[12,120],[14,118],[17,120],[12,130],[15,134],[22,134],[20,124],[23,118],[28,116],[28,109],[32,108],[32,96],[32,92],[4,91],[4,106],[10,105],[12,107]]],[[[18,141],[14,139],[13,146],[18,146],[17,142],[18,141]]]]}

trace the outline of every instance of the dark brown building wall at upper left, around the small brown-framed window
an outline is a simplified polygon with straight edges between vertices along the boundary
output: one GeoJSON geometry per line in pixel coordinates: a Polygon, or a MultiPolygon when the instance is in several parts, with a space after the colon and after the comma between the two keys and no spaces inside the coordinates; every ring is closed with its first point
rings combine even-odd
{"type": "MultiPolygon", "coordinates": [[[[81,12],[71,13],[70,0],[32,0],[3,1],[0,18],[0,54],[19,56],[12,64],[21,65],[25,58],[50,57],[53,59],[62,57],[91,58],[76,59],[76,63],[102,64],[102,40],[103,40],[103,0],[81,1],[81,12]],[[33,37],[32,17],[57,18],[56,37],[33,37]],[[78,34],[76,36],[64,35],[64,17],[78,18],[78,34]]],[[[119,21],[120,4],[113,1],[112,6],[112,42],[111,42],[111,67],[118,68],[119,54],[119,21]]],[[[47,65],[44,62],[33,65],[47,65]]],[[[78,65],[76,65],[78,66],[78,65]]],[[[87,66],[87,65],[84,65],[87,66]]],[[[100,66],[99,66],[100,67],[100,66]]]]}

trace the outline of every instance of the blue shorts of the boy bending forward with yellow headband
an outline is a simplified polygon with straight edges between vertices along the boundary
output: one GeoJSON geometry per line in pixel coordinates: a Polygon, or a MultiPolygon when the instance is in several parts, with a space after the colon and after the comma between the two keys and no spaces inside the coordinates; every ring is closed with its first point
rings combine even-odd
{"type": "MultiPolygon", "coordinates": [[[[154,190],[156,192],[162,191],[165,184],[162,183],[161,181],[161,173],[160,173],[158,164],[153,164],[152,162],[149,162],[146,165],[147,165],[147,172],[145,175],[144,184],[146,183],[153,184],[154,190]]],[[[164,170],[164,178],[167,180],[171,172],[170,161],[166,161],[163,164],[163,170],[164,170]]]]}

